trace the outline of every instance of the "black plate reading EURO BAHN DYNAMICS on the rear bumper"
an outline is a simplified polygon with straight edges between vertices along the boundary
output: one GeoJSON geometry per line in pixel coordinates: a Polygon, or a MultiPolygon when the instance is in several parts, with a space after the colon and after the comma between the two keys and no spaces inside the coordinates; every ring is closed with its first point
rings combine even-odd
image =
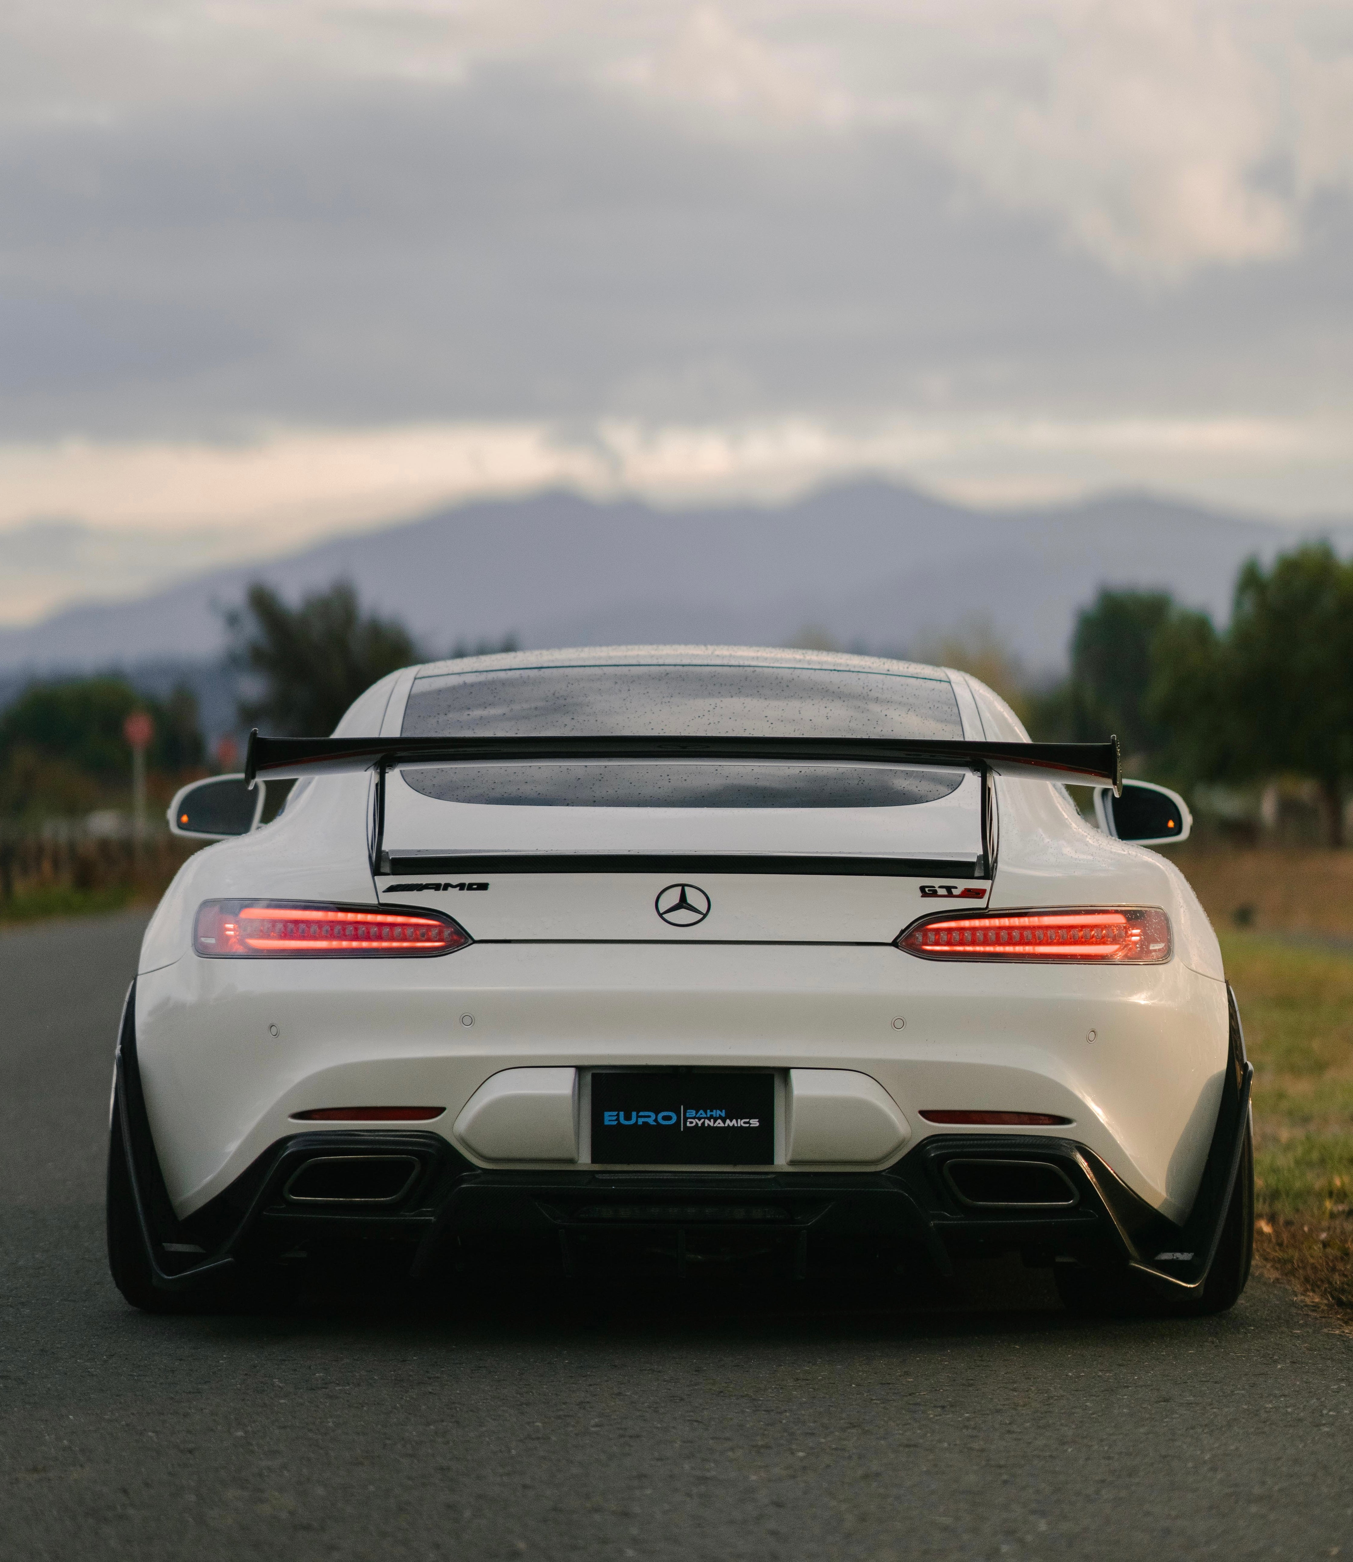
{"type": "Polygon", "coordinates": [[[595,1165],[775,1164],[773,1073],[592,1075],[595,1165]]]}

